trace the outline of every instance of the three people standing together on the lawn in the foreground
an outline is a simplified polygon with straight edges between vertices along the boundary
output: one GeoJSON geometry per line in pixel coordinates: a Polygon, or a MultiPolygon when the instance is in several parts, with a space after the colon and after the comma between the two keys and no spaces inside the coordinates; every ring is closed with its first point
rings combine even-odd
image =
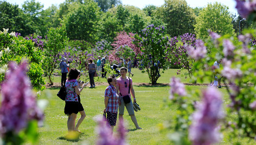
{"type": "MultiPolygon", "coordinates": [[[[118,109],[119,120],[123,120],[124,108],[126,108],[129,115],[131,116],[132,122],[135,124],[136,129],[142,129],[138,126],[135,112],[133,110],[133,104],[131,101],[132,96],[133,102],[136,103],[135,90],[133,89],[132,85],[132,78],[126,76],[127,69],[125,67],[120,68],[120,74],[121,76],[119,78],[116,78],[116,76],[114,75],[107,78],[107,82],[109,85],[105,89],[104,101],[104,113],[107,114],[107,124],[113,130],[117,122],[118,109]],[[127,95],[130,97],[129,103],[125,103],[123,100],[123,97],[127,95]]],[[[78,131],[79,133],[81,133],[81,131],[79,130],[79,126],[86,117],[85,110],[82,107],[80,101],[80,93],[87,85],[87,83],[79,81],[80,77],[81,72],[79,70],[72,68],[69,71],[67,81],[65,82],[67,96],[65,99],[64,109],[64,113],[68,115],[68,131],[78,131]],[[75,124],[75,119],[78,113],[81,114],[81,117],[75,124]]]]}

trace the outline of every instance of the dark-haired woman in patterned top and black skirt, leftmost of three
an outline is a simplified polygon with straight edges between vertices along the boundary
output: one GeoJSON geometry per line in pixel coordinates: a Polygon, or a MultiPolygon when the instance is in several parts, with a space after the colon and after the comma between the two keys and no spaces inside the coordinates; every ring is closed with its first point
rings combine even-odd
{"type": "Polygon", "coordinates": [[[64,113],[68,115],[68,131],[78,131],[79,133],[81,133],[81,131],[78,128],[86,116],[85,110],[80,103],[79,95],[82,89],[84,89],[87,85],[85,83],[83,84],[82,82],[78,82],[80,74],[80,71],[75,68],[72,68],[69,71],[68,79],[65,84],[67,96],[65,99],[64,109],[64,113]],[[79,89],[79,86],[81,87],[81,89],[79,89]],[[75,119],[78,112],[81,114],[81,117],[79,118],[75,126],[75,119]]]}

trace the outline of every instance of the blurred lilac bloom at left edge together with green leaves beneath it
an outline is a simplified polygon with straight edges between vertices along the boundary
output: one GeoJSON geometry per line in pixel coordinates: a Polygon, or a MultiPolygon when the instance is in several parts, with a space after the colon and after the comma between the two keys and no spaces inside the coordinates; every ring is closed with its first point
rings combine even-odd
{"type": "Polygon", "coordinates": [[[5,80],[1,84],[0,137],[3,144],[22,144],[26,140],[36,142],[37,121],[43,113],[37,107],[36,96],[27,76],[28,64],[19,66],[10,62],[5,80]]]}

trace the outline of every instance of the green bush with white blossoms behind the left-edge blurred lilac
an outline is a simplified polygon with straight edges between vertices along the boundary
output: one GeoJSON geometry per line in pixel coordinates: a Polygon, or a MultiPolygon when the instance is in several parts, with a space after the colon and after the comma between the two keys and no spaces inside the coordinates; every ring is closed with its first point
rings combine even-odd
{"type": "MultiPolygon", "coordinates": [[[[25,57],[29,62],[28,76],[30,80],[33,80],[31,84],[35,89],[43,90],[44,79],[42,77],[42,51],[39,48],[34,47],[34,43],[31,40],[24,39],[21,36],[15,35],[15,32],[8,33],[8,29],[0,31],[0,65],[4,66],[10,61],[20,63],[25,57]]],[[[0,75],[0,81],[4,80],[5,70],[2,70],[0,75]]]]}

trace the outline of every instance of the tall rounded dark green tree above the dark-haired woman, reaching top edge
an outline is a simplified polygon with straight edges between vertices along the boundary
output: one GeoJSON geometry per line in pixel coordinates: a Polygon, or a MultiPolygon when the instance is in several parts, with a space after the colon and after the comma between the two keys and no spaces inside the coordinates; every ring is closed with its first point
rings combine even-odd
{"type": "Polygon", "coordinates": [[[70,39],[84,39],[88,42],[97,41],[97,28],[100,10],[92,0],[79,4],[74,11],[69,12],[66,23],[67,35],[70,39]]]}

